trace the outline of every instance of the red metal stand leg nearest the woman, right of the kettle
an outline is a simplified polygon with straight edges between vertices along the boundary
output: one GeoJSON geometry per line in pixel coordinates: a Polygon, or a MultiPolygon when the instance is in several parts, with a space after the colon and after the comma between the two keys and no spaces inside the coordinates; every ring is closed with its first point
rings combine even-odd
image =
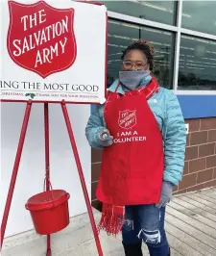
{"type": "Polygon", "coordinates": [[[79,172],[79,175],[80,175],[80,180],[81,180],[81,184],[82,184],[82,188],[83,188],[83,192],[84,192],[84,199],[85,199],[85,203],[86,203],[86,206],[87,206],[87,212],[88,212],[90,222],[91,222],[91,227],[92,227],[92,230],[93,230],[93,233],[94,233],[94,239],[95,239],[95,243],[97,245],[98,255],[103,256],[103,251],[102,251],[100,239],[99,239],[99,236],[98,236],[97,227],[96,227],[96,224],[95,224],[94,216],[93,216],[92,209],[91,209],[90,200],[89,200],[89,197],[88,197],[88,193],[87,193],[87,189],[86,189],[86,185],[85,185],[85,181],[84,181],[83,168],[82,168],[82,165],[81,165],[81,161],[80,161],[76,141],[74,139],[74,134],[73,134],[73,130],[72,130],[72,127],[71,127],[70,118],[69,118],[69,115],[68,115],[68,112],[67,112],[67,107],[66,107],[64,101],[62,101],[62,103],[61,103],[61,108],[62,108],[62,112],[63,112],[63,115],[64,115],[65,123],[66,123],[66,126],[67,126],[67,131],[68,131],[68,134],[69,134],[70,142],[71,142],[71,145],[72,145],[72,148],[73,148],[74,157],[75,157],[75,161],[76,161],[76,164],[77,164],[78,172],[79,172]]]}

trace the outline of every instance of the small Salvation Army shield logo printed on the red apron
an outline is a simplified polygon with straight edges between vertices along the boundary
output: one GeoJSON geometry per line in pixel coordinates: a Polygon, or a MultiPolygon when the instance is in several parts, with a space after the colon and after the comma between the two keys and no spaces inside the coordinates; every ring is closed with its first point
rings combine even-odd
{"type": "Polygon", "coordinates": [[[136,111],[120,111],[118,124],[123,129],[130,129],[136,124],[136,111]]]}

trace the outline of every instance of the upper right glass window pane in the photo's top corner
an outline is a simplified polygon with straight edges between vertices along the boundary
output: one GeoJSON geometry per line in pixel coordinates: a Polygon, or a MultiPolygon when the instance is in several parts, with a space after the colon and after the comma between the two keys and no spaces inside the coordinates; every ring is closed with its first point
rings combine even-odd
{"type": "Polygon", "coordinates": [[[216,35],[216,1],[183,1],[182,28],[216,35]]]}

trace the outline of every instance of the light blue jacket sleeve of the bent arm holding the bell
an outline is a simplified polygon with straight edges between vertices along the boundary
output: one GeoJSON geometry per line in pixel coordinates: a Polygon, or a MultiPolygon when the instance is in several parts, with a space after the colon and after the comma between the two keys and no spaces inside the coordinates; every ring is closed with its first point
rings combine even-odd
{"type": "Polygon", "coordinates": [[[102,149],[104,147],[100,145],[97,135],[102,128],[105,128],[105,124],[103,116],[100,116],[99,108],[100,106],[96,106],[94,112],[90,115],[85,127],[85,136],[91,147],[102,149]]]}

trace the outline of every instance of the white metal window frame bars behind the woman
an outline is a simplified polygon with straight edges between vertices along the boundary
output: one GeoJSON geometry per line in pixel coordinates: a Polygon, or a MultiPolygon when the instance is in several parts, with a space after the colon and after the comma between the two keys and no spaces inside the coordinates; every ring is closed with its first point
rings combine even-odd
{"type": "Polygon", "coordinates": [[[175,41],[175,53],[174,53],[174,75],[173,75],[173,91],[179,95],[216,95],[216,90],[178,90],[178,78],[179,78],[179,61],[180,61],[180,36],[195,36],[199,38],[213,39],[216,41],[216,36],[211,34],[205,34],[203,32],[193,31],[189,29],[181,28],[181,14],[182,14],[183,0],[177,1],[177,21],[176,26],[159,23],[156,21],[134,17],[122,13],[115,13],[108,11],[108,18],[114,18],[120,21],[132,22],[137,25],[145,25],[165,31],[173,32],[176,36],[175,41]]]}

